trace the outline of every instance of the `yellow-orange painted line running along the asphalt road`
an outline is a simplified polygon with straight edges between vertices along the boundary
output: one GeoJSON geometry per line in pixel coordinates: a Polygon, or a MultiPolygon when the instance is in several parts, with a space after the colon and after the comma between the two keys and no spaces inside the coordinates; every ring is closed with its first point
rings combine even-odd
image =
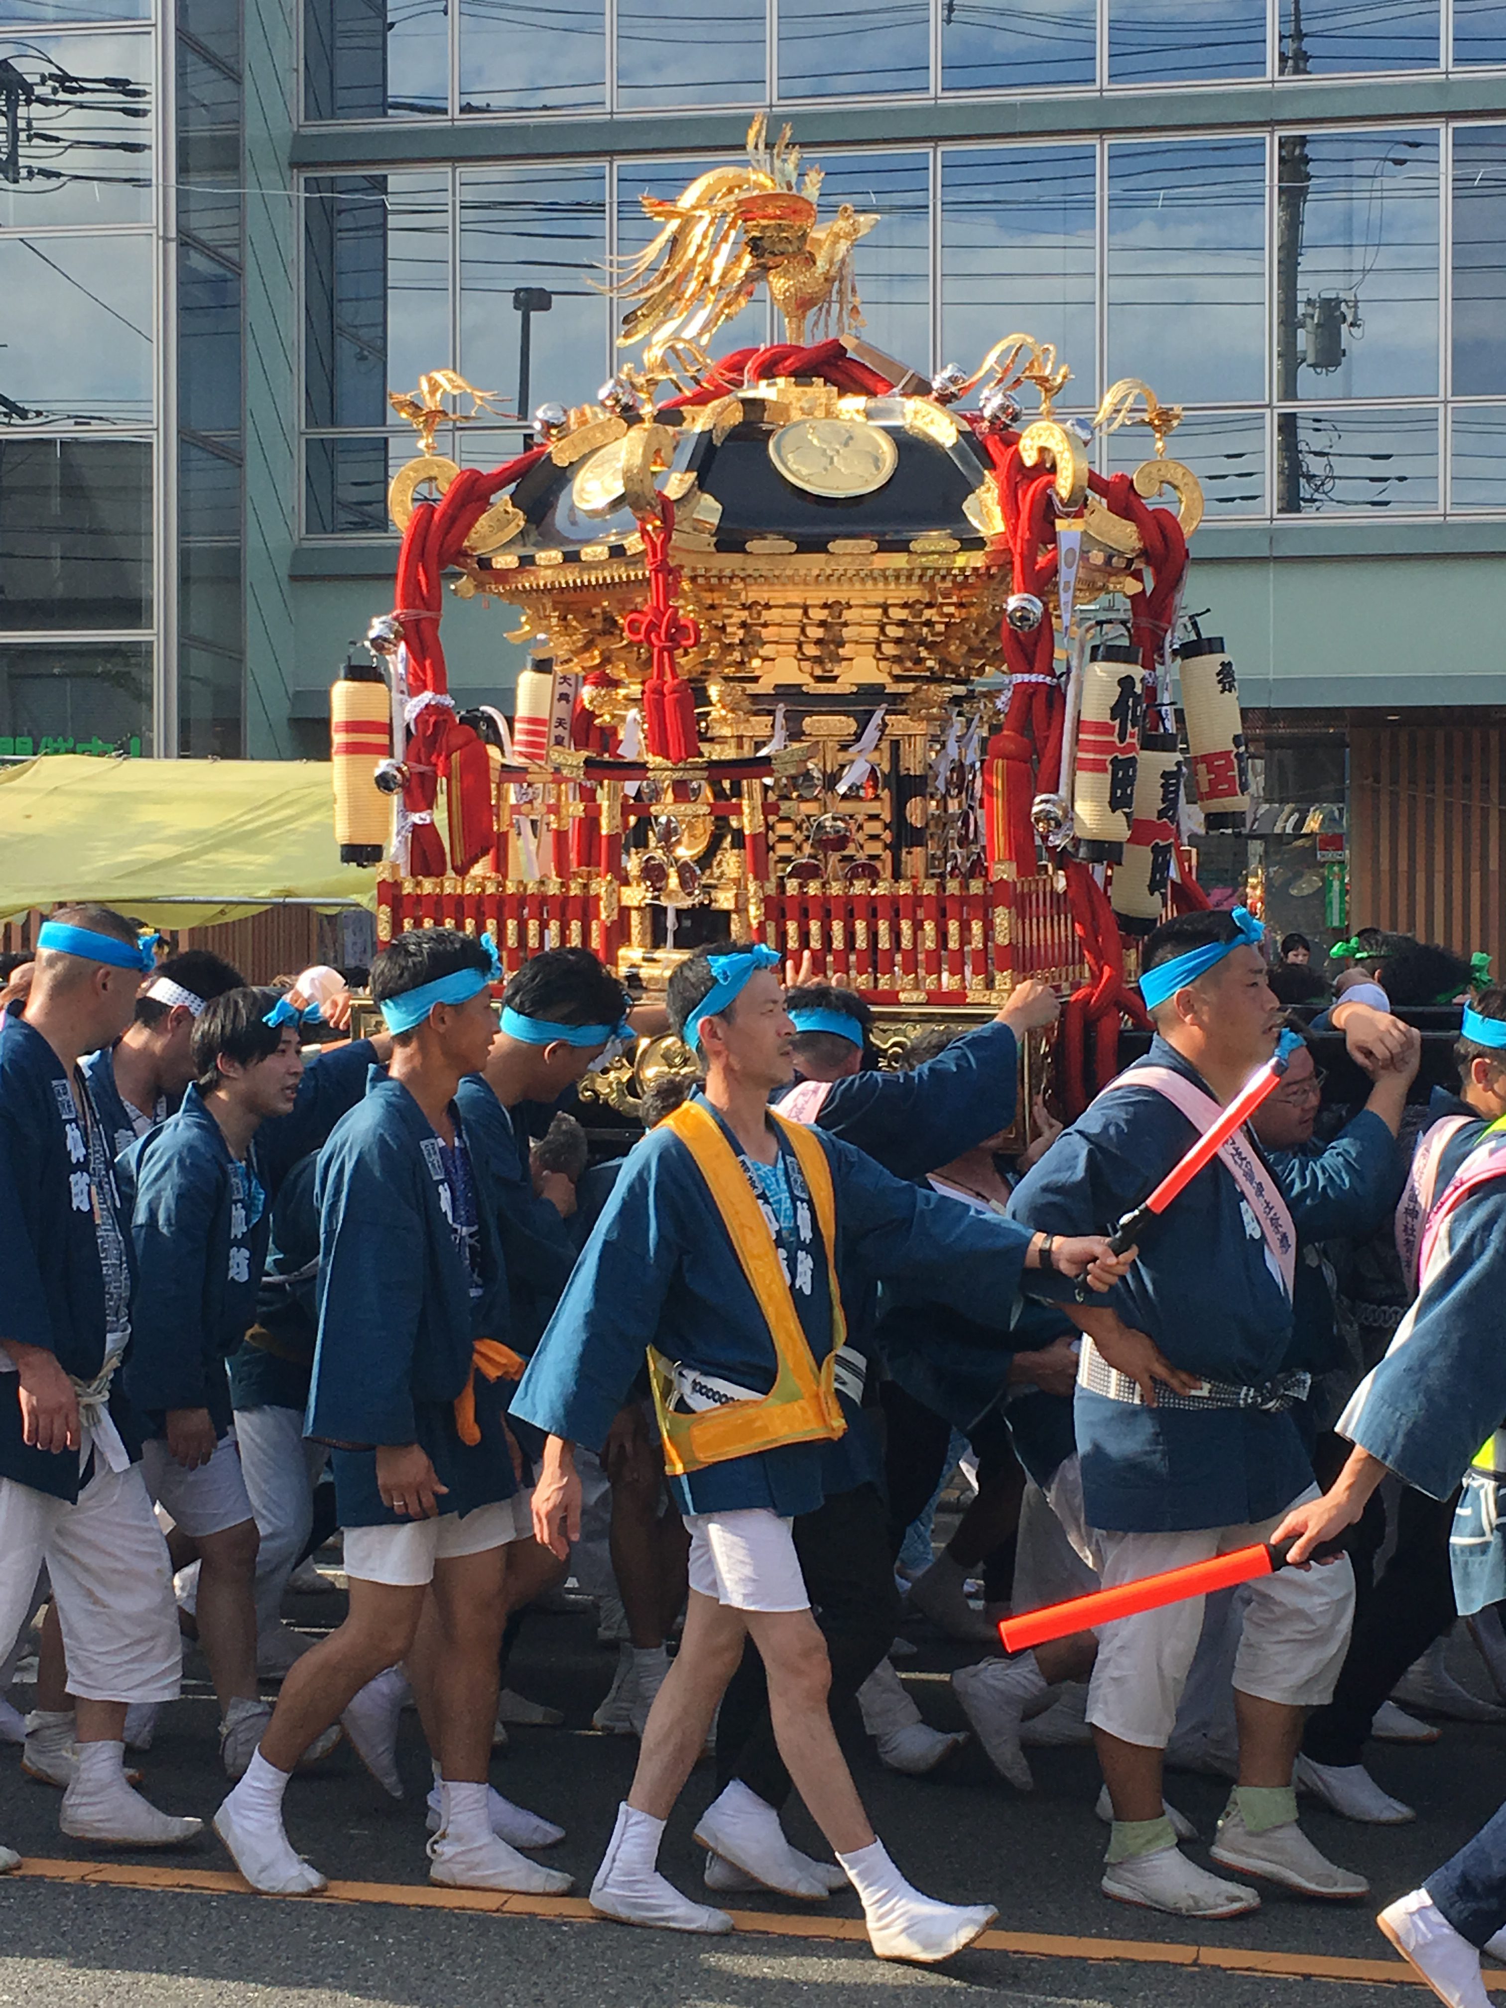
{"type": "MultiPolygon", "coordinates": [[[[211,1896],[247,1896],[249,1886],[229,1869],[139,1867],[127,1861],[42,1861],[26,1859],[16,1881],[88,1884],[112,1890],[187,1890],[211,1896]]],[[[436,1884],[349,1884],[331,1881],[315,1898],[297,1904],[396,1904],[402,1910],[484,1912],[508,1918],[564,1918],[602,1924],[582,1896],[510,1896],[492,1890],[442,1890],[436,1884]]],[[[735,1910],[739,1932],[765,1938],[825,1938],[865,1944],[857,1918],[787,1916],[767,1910],[735,1910]]],[[[1317,1952],[1249,1952],[1237,1946],[1165,1946],[1145,1938],[1060,1938],[1048,1932],[984,1932],[982,1952],[1014,1952],[1028,1960],[1122,1960],[1145,1966],[1203,1966],[1229,1974],[1271,1974],[1287,1980],[1351,1980],[1418,1986],[1402,1960],[1331,1960],[1317,1952]]],[[[1506,1970],[1486,1970],[1486,1986],[1506,1994],[1506,1970]]]]}

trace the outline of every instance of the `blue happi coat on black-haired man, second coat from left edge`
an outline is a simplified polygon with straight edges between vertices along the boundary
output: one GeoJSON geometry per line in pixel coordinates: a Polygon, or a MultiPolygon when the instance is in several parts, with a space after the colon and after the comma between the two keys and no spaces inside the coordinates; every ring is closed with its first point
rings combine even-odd
{"type": "Polygon", "coordinates": [[[369,1040],[311,1060],[285,1116],[271,1116],[235,1165],[213,1114],[189,1086],[175,1116],[127,1151],[137,1297],[124,1386],[153,1434],[173,1408],[207,1408],[231,1426],[225,1361],[255,1321],[271,1233],[269,1201],[365,1092],[369,1040]]]}

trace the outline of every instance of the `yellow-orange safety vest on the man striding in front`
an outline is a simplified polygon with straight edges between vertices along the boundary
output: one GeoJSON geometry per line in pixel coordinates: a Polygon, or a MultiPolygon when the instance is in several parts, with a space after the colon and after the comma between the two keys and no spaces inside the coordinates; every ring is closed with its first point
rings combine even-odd
{"type": "Polygon", "coordinates": [[[649,1347],[649,1379],[655,1412],[665,1440],[665,1470],[673,1478],[699,1472],[727,1458],[747,1458],[781,1444],[833,1442],[847,1428],[835,1390],[837,1351],[847,1335],[847,1319],[837,1287],[837,1201],[831,1187],[831,1165],[809,1128],[785,1122],[769,1110],[805,1175],[815,1219],[825,1245],[827,1279],[831,1285],[831,1351],[821,1365],[811,1357],[811,1345],[795,1309],[773,1233],[763,1209],[753,1197],[737,1153],[703,1102],[683,1102],[663,1126],[675,1131],[707,1181],[707,1191],[731,1237],[743,1275],[769,1325],[779,1361],[773,1388],[749,1402],[727,1402],[699,1416],[675,1414],[675,1361],[649,1347]]]}

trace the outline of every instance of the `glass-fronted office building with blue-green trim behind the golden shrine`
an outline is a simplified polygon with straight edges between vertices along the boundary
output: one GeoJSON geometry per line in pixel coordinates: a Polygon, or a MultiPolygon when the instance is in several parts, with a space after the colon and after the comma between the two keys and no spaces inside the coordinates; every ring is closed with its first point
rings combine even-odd
{"type": "MultiPolygon", "coordinates": [[[[390,604],[388,392],[448,363],[516,410],[526,325],[528,406],[590,396],[639,197],[759,108],[880,211],[880,347],[1028,329],[1062,408],[1185,408],[1191,604],[1273,747],[1500,733],[1506,0],[151,6],[0,0],[0,751],[317,753],[390,604]]],[[[462,693],[506,626],[454,608],[462,693]]]]}

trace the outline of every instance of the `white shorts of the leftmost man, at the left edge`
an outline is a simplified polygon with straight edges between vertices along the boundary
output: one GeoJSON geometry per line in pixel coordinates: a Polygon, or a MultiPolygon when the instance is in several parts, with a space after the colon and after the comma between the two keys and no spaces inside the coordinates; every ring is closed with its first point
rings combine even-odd
{"type": "MultiPolygon", "coordinates": [[[[64,1452],[66,1454],[66,1452],[64,1452]]],[[[0,1478],[0,1657],[26,1622],[46,1562],[78,1701],[175,1701],[183,1637],[173,1564],[141,1466],[102,1458],[74,1506],[0,1478]]]]}

